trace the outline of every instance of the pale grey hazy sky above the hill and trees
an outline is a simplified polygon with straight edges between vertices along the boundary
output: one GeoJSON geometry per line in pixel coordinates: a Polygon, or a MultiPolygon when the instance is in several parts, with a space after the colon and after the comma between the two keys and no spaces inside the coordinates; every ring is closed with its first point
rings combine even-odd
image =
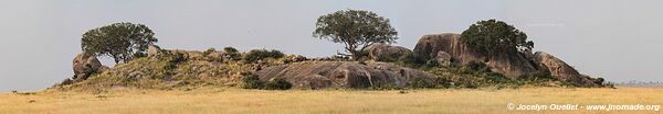
{"type": "MultiPolygon", "coordinates": [[[[343,45],[314,38],[338,10],[370,10],[414,48],[427,34],[461,33],[497,19],[524,31],[535,50],[608,81],[663,81],[660,0],[1,0],[0,91],[41,90],[73,76],[81,35],[117,22],[149,26],[164,48],[233,46],[330,56],[343,45]]],[[[108,57],[103,64],[113,66],[108,57]]]]}

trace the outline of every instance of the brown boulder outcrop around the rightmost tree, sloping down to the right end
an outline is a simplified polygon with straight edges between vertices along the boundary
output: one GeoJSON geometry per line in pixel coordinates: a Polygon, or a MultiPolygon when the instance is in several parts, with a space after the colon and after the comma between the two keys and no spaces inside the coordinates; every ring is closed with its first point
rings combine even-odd
{"type": "MultiPolygon", "coordinates": [[[[460,37],[461,34],[454,33],[424,35],[417,43],[414,53],[436,57],[439,52],[444,52],[460,61],[461,65],[467,65],[471,61],[484,62],[486,55],[480,55],[475,49],[467,47],[461,42],[460,37]]],[[[491,67],[492,71],[512,79],[528,77],[544,70],[549,71],[556,79],[573,84],[582,87],[598,87],[601,84],[596,83],[588,76],[580,75],[561,59],[544,52],[493,55],[485,64],[491,67]]]]}

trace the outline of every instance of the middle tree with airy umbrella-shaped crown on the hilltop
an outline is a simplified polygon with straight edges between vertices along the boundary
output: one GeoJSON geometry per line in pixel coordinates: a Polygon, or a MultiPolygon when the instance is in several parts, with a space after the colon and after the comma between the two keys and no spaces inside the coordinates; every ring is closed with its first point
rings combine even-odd
{"type": "Polygon", "coordinates": [[[343,43],[347,53],[355,59],[364,48],[375,43],[396,43],[398,33],[389,24],[389,19],[370,11],[341,10],[322,15],[315,23],[313,36],[343,43]]]}

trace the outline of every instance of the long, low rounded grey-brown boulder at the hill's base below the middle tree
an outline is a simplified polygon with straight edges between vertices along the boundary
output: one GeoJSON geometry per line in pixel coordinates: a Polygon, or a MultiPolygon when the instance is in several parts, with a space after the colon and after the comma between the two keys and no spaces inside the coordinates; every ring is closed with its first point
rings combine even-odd
{"type": "Polygon", "coordinates": [[[261,81],[285,79],[293,88],[410,87],[413,81],[433,83],[433,75],[387,62],[305,61],[256,71],[261,81]]]}

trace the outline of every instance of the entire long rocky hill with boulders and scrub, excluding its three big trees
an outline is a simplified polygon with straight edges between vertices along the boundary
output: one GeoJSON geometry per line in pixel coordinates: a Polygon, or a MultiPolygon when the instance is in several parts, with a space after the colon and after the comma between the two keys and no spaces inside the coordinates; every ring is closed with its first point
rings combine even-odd
{"type": "Polygon", "coordinates": [[[82,53],[74,57],[72,79],[53,89],[170,90],[245,87],[248,83],[271,86],[276,81],[295,89],[603,87],[602,79],[581,75],[561,59],[543,52],[501,54],[486,59],[485,55],[464,45],[460,34],[453,33],[424,35],[413,50],[375,44],[364,52],[366,58],[349,60],[344,57],[283,56],[266,50],[239,53],[212,48],[197,52],[151,46],[146,57],[136,57],[112,68],[82,53]]]}

